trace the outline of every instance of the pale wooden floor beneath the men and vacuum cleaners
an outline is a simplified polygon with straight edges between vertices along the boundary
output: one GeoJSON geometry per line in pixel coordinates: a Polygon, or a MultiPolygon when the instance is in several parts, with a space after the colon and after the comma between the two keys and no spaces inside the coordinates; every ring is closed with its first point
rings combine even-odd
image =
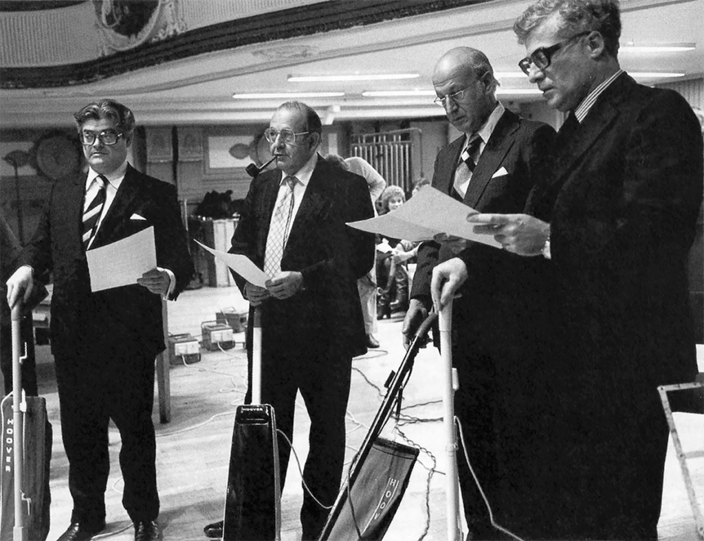
{"type": "MultiPolygon", "coordinates": [[[[176,303],[169,303],[169,328],[171,333],[191,333],[199,336],[200,324],[215,319],[215,312],[227,307],[246,307],[236,288],[202,288],[184,292],[176,303]]],[[[401,347],[401,320],[385,319],[379,322],[377,338],[379,350],[353,362],[352,389],[348,407],[349,461],[361,444],[367,427],[381,403],[377,388],[382,388],[391,369],[403,358],[401,347]],[[375,387],[376,386],[376,387],[375,387]]],[[[243,336],[238,336],[243,340],[243,336]]],[[[170,371],[172,392],[172,421],[158,424],[158,411],[154,409],[157,433],[157,469],[161,496],[160,523],[165,540],[203,540],[203,526],[222,515],[225,495],[225,478],[232,437],[234,411],[244,398],[246,384],[246,359],[242,344],[225,352],[201,350],[201,362],[188,366],[175,366],[170,371]]],[[[405,392],[406,406],[428,403],[408,410],[422,419],[438,419],[441,410],[441,367],[435,350],[427,348],[417,357],[413,375],[405,392]]],[[[49,541],[55,541],[68,526],[71,499],[68,493],[68,462],[61,443],[61,426],[58,396],[53,366],[39,365],[40,392],[48,402],[49,418],[54,425],[54,454],[51,459],[51,532],[49,541]]],[[[296,412],[294,447],[305,459],[309,421],[301,400],[296,412]]],[[[676,414],[679,432],[684,445],[690,449],[704,449],[704,416],[676,414]]],[[[446,453],[440,421],[427,421],[403,426],[408,438],[427,450],[420,454],[410,485],[401,507],[384,537],[388,541],[413,541],[422,537],[426,528],[428,541],[443,541],[446,535],[444,499],[446,453]],[[434,457],[434,459],[431,457],[434,457]],[[429,483],[429,469],[436,460],[436,471],[429,483]],[[429,502],[429,516],[427,503],[429,502]]],[[[122,508],[122,479],[118,466],[120,438],[111,429],[112,469],[106,496],[108,529],[105,535],[115,541],[130,541],[134,533],[125,510],[122,508]]],[[[672,445],[671,445],[672,447],[672,445]]],[[[691,471],[696,487],[704,493],[704,464],[691,461],[691,471]]],[[[669,541],[696,541],[696,525],[679,464],[672,448],[668,452],[665,471],[665,499],[660,518],[660,539],[669,541]]],[[[301,504],[300,475],[291,463],[282,495],[282,540],[300,539],[298,510],[301,504]]],[[[31,541],[31,540],[30,540],[31,541]]]]}

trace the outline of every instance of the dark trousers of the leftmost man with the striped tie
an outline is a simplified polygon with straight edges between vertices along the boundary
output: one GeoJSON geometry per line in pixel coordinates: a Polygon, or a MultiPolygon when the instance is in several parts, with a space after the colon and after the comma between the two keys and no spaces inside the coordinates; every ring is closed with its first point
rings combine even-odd
{"type": "Polygon", "coordinates": [[[122,440],[122,505],[132,521],[153,520],[159,512],[151,420],[154,357],[130,344],[121,350],[104,346],[56,357],[61,432],[73,497],[71,521],[81,521],[89,529],[99,529],[106,518],[111,419],[122,440]]]}

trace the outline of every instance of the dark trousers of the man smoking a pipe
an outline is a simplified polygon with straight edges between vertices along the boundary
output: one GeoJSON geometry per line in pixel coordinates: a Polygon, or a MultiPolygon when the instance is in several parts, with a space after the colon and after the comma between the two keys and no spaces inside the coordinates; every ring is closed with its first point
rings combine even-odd
{"type": "MultiPolygon", "coordinates": [[[[308,338],[264,337],[261,396],[263,403],[274,408],[277,428],[295,445],[294,409],[296,392],[301,392],[310,416],[310,450],[303,466],[303,483],[323,505],[331,506],[339,492],[344,466],[345,414],[352,359],[336,351],[339,348],[326,345],[329,339],[308,338]]],[[[283,488],[291,449],[280,434],[278,446],[283,488]]],[[[327,514],[328,510],[320,507],[304,488],[303,540],[318,537],[327,514]]]]}

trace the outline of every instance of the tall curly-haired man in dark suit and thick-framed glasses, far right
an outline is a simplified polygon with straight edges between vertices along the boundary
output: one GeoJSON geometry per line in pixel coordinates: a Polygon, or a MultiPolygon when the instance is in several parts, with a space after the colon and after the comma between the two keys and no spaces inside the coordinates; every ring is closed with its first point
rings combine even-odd
{"type": "MultiPolygon", "coordinates": [[[[480,215],[505,250],[547,258],[555,314],[543,537],[655,541],[667,423],[657,386],[693,381],[687,254],[702,201],[688,103],[617,59],[615,0],[541,0],[515,23],[521,68],[569,112],[528,214],[480,215]]],[[[437,276],[440,298],[444,276],[437,276]]]]}

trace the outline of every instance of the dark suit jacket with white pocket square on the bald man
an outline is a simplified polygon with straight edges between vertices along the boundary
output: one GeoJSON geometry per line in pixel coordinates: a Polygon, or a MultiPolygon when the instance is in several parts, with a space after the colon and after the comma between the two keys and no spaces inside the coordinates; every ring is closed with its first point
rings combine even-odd
{"type": "MultiPolygon", "coordinates": [[[[554,135],[548,125],[506,110],[479,156],[464,203],[481,212],[522,212],[529,191],[548,170],[554,135]]],[[[451,194],[464,144],[463,136],[437,155],[432,179],[436,189],[451,194]]],[[[429,297],[433,267],[454,255],[438,243],[423,243],[411,298],[429,297]]],[[[480,243],[470,244],[459,257],[467,265],[469,278],[461,290],[463,299],[455,306],[461,311],[466,305],[470,310],[463,314],[463,329],[455,330],[466,335],[481,329],[475,336],[492,345],[520,345],[520,340],[532,339],[526,324],[536,320],[527,319],[525,310],[541,304],[536,283],[545,281],[540,277],[543,262],[480,243]]]]}

